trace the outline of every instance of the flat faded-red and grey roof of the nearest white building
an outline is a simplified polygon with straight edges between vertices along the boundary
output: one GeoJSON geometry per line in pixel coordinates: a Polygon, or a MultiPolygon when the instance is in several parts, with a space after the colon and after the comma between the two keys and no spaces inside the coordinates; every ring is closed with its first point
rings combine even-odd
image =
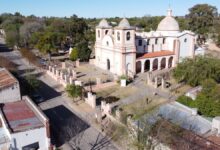
{"type": "Polygon", "coordinates": [[[4,104],[3,113],[12,132],[21,132],[44,126],[25,100],[4,104]]]}

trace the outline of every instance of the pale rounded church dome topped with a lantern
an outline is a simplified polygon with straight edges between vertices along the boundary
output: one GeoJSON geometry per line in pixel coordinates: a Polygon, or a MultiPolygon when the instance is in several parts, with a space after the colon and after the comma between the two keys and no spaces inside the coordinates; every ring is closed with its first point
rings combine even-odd
{"type": "Polygon", "coordinates": [[[179,24],[172,16],[172,10],[168,9],[167,16],[159,23],[157,31],[179,31],[179,24]]]}

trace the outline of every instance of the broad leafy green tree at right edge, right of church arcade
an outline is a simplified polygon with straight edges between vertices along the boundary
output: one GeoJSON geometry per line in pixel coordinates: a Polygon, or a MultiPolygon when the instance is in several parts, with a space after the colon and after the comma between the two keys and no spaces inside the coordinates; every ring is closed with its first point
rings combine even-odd
{"type": "Polygon", "coordinates": [[[220,60],[211,56],[186,58],[174,69],[173,76],[191,86],[201,85],[206,79],[220,82],[220,60]]]}

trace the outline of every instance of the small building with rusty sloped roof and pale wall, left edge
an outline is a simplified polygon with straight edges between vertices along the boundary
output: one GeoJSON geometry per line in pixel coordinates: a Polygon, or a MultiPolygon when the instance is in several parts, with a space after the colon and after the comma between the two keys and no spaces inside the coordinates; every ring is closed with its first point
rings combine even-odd
{"type": "Polygon", "coordinates": [[[5,68],[0,68],[0,103],[21,100],[18,80],[5,68]]]}

